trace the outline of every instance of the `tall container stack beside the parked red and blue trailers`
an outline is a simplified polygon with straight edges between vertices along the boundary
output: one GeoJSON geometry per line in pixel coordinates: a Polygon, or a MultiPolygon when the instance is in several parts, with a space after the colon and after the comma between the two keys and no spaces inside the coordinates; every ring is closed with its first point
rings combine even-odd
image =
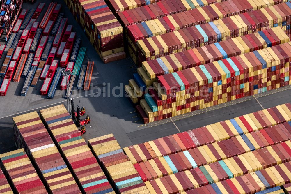
{"type": "Polygon", "coordinates": [[[125,58],[123,28],[105,1],[65,1],[104,63],[125,58]]]}

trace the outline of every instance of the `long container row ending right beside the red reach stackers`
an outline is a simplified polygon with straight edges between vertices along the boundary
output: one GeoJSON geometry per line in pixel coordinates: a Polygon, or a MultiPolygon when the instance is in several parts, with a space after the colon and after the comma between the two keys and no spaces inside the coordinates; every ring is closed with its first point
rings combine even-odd
{"type": "Polygon", "coordinates": [[[105,174],[64,105],[40,110],[40,117],[73,172],[83,193],[111,193],[105,174]]]}

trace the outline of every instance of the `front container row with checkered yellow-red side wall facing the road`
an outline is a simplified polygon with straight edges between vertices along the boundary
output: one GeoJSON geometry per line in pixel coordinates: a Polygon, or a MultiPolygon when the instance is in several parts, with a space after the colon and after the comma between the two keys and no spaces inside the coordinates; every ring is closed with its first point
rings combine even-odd
{"type": "Polygon", "coordinates": [[[138,112],[153,122],[287,86],[290,49],[288,42],[160,75],[155,94],[140,100],[138,112]]]}

